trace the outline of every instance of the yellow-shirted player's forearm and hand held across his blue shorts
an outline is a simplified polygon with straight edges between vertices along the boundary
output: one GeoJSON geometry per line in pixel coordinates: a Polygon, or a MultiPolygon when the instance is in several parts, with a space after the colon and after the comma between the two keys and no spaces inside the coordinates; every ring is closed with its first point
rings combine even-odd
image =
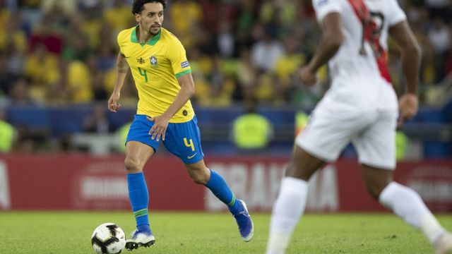
{"type": "Polygon", "coordinates": [[[160,136],[162,137],[162,140],[165,140],[165,132],[167,130],[169,119],[171,119],[177,111],[182,109],[186,102],[188,102],[189,99],[195,94],[195,83],[191,73],[182,75],[177,78],[177,81],[179,82],[181,89],[174,98],[174,102],[172,102],[167,110],[165,110],[165,112],[163,112],[160,116],[148,117],[149,121],[154,121],[154,125],[150,128],[149,133],[152,133],[152,138],[157,138],[157,141],[160,140],[160,136]]]}

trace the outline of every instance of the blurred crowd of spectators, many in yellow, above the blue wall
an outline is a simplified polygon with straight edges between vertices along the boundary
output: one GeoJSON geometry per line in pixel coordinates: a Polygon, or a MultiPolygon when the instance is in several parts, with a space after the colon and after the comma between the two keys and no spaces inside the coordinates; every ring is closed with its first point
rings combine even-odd
{"type": "MultiPolygon", "coordinates": [[[[106,102],[114,85],[117,34],[136,25],[131,0],[0,0],[0,102],[66,105],[106,102]]],[[[452,4],[400,0],[422,47],[421,104],[452,72],[452,4]]],[[[186,47],[196,107],[259,104],[311,108],[328,84],[304,87],[296,75],[320,30],[310,0],[169,0],[163,26],[186,47]]],[[[398,93],[396,44],[388,63],[398,93]]],[[[135,107],[131,75],[121,104],[135,107]]],[[[430,99],[431,100],[431,99],[430,99]]]]}

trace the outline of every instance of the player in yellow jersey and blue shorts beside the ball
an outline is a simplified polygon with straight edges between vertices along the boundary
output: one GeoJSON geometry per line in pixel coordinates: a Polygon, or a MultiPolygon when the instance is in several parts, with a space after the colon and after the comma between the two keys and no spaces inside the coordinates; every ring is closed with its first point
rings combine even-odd
{"type": "Polygon", "coordinates": [[[162,28],[166,0],[135,0],[132,13],[138,25],[118,35],[120,52],[114,91],[108,109],[116,112],[126,73],[131,69],[138,90],[138,109],[126,139],[125,167],[129,198],[136,218],[136,231],[126,241],[133,250],[151,246],[155,237],[148,219],[149,194],[143,167],[160,142],[184,162],[195,183],[203,184],[224,202],[234,215],[243,241],[250,241],[254,228],[242,200],[235,198],[220,174],[203,161],[199,128],[190,97],[194,80],[184,46],[162,28]]]}

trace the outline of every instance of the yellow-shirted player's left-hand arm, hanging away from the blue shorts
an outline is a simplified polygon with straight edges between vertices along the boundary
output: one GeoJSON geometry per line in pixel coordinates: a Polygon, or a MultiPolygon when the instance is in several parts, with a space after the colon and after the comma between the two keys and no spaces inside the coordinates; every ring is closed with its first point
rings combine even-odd
{"type": "Polygon", "coordinates": [[[119,97],[121,96],[121,88],[124,85],[127,71],[129,71],[129,63],[126,61],[126,56],[119,52],[116,60],[116,78],[114,80],[114,88],[112,96],[108,100],[109,111],[116,112],[120,107],[119,97]]]}

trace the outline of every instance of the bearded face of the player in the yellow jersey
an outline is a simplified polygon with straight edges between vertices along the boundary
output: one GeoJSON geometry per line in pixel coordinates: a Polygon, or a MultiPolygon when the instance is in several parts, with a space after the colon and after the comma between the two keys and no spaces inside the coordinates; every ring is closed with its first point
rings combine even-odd
{"type": "Polygon", "coordinates": [[[136,22],[151,35],[157,35],[163,23],[163,5],[155,2],[144,4],[143,7],[143,11],[135,16],[136,22]]]}

